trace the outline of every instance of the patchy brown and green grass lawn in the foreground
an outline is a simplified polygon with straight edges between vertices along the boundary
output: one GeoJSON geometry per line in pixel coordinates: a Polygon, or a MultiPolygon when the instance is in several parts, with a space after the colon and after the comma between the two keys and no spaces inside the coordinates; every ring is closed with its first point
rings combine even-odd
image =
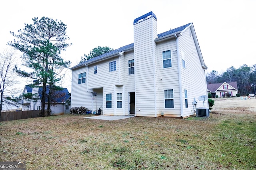
{"type": "Polygon", "coordinates": [[[84,116],[0,122],[0,161],[25,161],[28,170],[256,169],[256,114],[84,116]]]}

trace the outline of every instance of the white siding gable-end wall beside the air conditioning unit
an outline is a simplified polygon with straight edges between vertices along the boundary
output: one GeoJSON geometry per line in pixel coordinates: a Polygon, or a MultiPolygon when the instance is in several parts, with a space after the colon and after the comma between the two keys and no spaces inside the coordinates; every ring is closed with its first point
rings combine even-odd
{"type": "Polygon", "coordinates": [[[198,101],[198,96],[207,95],[207,87],[204,68],[202,68],[202,64],[200,63],[190,29],[182,33],[182,36],[179,37],[179,43],[183,113],[184,117],[186,117],[194,114],[192,105],[194,98],[198,102],[196,107],[208,107],[208,100],[205,103],[198,101]],[[181,51],[185,54],[186,69],[182,67],[181,51]],[[188,90],[188,108],[185,108],[185,89],[188,90]]]}

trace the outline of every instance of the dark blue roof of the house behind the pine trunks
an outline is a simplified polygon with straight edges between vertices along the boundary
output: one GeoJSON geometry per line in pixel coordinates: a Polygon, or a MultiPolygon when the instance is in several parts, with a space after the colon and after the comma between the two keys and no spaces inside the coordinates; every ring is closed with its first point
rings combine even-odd
{"type": "MultiPolygon", "coordinates": [[[[40,99],[42,98],[42,90],[43,88],[39,87],[38,94],[40,99]]],[[[46,87],[46,94],[49,94],[49,85],[46,87]]],[[[67,88],[62,88],[62,90],[55,90],[53,96],[55,96],[56,100],[54,103],[64,103],[66,100],[68,100],[68,98],[70,98],[70,93],[68,92],[67,88]]],[[[48,103],[48,98],[46,98],[45,102],[48,103]]]]}

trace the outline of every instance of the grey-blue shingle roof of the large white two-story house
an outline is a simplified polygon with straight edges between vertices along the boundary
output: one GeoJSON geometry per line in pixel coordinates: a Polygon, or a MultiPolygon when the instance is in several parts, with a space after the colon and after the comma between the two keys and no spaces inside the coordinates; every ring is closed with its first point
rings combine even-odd
{"type": "MultiPolygon", "coordinates": [[[[188,24],[186,24],[186,25],[182,25],[182,26],[180,26],[180,27],[177,27],[177,28],[171,29],[171,30],[169,30],[169,31],[160,33],[160,34],[158,34],[158,38],[157,38],[157,39],[160,39],[160,38],[161,38],[161,39],[164,39],[165,36],[174,35],[175,33],[181,33],[182,31],[184,31],[184,29],[186,29],[187,27],[189,27],[189,26],[191,26],[191,25],[193,25],[193,23],[188,23],[188,24]]],[[[157,40],[157,39],[156,39],[156,40],[157,40]]],[[[120,48],[118,48],[118,49],[115,49],[115,50],[113,50],[113,51],[110,51],[110,52],[108,52],[108,53],[105,53],[105,54],[103,54],[103,55],[99,55],[99,56],[97,56],[97,57],[94,57],[94,58],[92,58],[92,59],[89,59],[89,60],[87,60],[87,61],[85,61],[85,62],[83,62],[83,63],[80,63],[80,64],[78,64],[78,65],[76,65],[76,66],[71,67],[70,69],[73,70],[73,69],[75,69],[75,68],[79,68],[79,67],[84,66],[84,65],[86,65],[86,64],[94,63],[94,62],[96,62],[96,61],[100,61],[100,60],[106,59],[106,58],[108,58],[108,57],[112,57],[112,56],[118,55],[120,52],[123,52],[123,51],[125,52],[125,51],[128,51],[128,50],[133,49],[133,48],[134,48],[134,43],[125,45],[125,46],[123,46],[123,47],[120,47],[120,48]]]]}

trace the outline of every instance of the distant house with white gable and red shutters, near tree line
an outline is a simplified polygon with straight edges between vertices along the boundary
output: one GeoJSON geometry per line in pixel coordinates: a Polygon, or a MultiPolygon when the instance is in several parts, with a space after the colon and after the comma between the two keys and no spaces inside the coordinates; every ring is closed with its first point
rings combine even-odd
{"type": "Polygon", "coordinates": [[[229,93],[230,96],[236,96],[238,94],[237,82],[224,82],[216,84],[207,84],[208,93],[212,94],[212,98],[225,97],[226,93],[229,93]]]}

